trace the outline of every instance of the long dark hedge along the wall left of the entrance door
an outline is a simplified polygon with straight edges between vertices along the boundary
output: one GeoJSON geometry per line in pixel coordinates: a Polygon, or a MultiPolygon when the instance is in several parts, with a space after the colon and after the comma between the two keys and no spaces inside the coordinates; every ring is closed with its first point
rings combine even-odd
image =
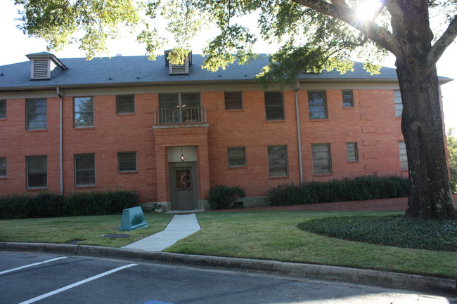
{"type": "Polygon", "coordinates": [[[112,214],[138,206],[138,199],[134,191],[76,192],[67,196],[15,194],[0,197],[0,220],[112,214]]]}

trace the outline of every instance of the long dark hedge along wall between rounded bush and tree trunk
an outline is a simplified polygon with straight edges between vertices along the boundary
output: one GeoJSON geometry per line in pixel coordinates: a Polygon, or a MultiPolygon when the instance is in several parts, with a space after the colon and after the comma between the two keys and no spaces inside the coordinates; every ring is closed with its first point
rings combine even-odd
{"type": "Polygon", "coordinates": [[[361,176],[352,180],[280,185],[268,190],[268,201],[270,206],[318,204],[407,197],[408,192],[407,178],[361,176]]]}

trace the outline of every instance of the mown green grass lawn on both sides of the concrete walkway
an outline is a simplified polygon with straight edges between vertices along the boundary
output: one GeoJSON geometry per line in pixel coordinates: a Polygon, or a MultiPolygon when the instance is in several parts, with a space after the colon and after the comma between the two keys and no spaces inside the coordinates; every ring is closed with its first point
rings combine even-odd
{"type": "MultiPolygon", "coordinates": [[[[167,252],[259,258],[340,265],[457,279],[457,252],[403,249],[324,237],[300,230],[305,220],[330,216],[398,214],[386,212],[221,212],[198,213],[202,227],[167,252]]],[[[0,220],[0,241],[67,243],[120,247],[162,230],[172,216],[146,214],[150,227],[127,232],[128,238],[105,239],[119,233],[118,216],[0,220]]]]}

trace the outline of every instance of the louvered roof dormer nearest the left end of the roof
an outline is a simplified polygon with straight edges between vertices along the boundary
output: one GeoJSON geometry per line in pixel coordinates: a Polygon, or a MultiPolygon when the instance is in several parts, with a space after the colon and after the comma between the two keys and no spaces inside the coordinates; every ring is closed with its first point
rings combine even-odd
{"type": "Polygon", "coordinates": [[[30,59],[30,79],[52,79],[63,70],[65,65],[51,53],[42,52],[26,55],[30,59]]]}

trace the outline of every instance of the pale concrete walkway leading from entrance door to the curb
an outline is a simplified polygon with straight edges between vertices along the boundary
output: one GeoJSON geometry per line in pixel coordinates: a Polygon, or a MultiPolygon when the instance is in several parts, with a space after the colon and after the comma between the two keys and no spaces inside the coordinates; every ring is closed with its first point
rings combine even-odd
{"type": "Polygon", "coordinates": [[[198,224],[195,213],[176,214],[173,216],[165,230],[153,234],[150,237],[140,239],[138,242],[131,243],[122,248],[140,249],[144,251],[162,251],[198,230],[200,230],[200,225],[198,224]]]}

